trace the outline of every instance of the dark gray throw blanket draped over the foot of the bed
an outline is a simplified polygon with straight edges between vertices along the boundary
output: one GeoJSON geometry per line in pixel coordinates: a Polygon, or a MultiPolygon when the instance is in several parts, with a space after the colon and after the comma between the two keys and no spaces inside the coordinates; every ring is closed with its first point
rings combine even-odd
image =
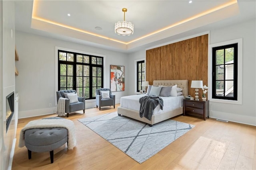
{"type": "Polygon", "coordinates": [[[159,96],[144,96],[140,98],[140,117],[145,117],[151,120],[153,110],[160,104],[161,110],[163,109],[163,99],[159,96]]]}

